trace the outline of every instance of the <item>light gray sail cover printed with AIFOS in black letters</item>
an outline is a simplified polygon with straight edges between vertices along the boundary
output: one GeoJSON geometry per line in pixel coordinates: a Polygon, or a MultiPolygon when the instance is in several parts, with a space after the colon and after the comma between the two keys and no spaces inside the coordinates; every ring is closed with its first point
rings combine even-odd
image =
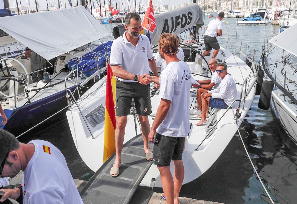
{"type": "Polygon", "coordinates": [[[158,44],[162,33],[180,34],[187,28],[196,24],[200,27],[204,24],[202,9],[197,4],[189,4],[186,7],[175,9],[155,16],[156,29],[151,36],[152,44],[158,44]]]}

